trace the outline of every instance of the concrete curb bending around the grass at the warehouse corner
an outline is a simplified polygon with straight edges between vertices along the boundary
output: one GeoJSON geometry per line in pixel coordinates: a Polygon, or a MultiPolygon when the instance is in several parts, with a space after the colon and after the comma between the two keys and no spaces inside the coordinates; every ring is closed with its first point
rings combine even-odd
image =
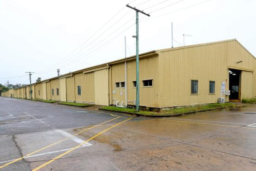
{"type": "Polygon", "coordinates": [[[204,109],[204,110],[198,110],[198,111],[193,111],[193,112],[186,112],[186,113],[175,113],[175,114],[170,114],[170,115],[145,115],[145,114],[139,114],[139,113],[130,113],[130,112],[118,112],[118,111],[113,111],[113,110],[107,110],[107,109],[99,109],[103,111],[111,111],[111,112],[116,112],[116,113],[126,113],[126,114],[131,114],[135,116],[144,116],[144,117],[151,117],[151,118],[165,118],[165,117],[175,117],[175,116],[181,116],[181,115],[188,115],[188,114],[194,114],[194,113],[199,113],[199,112],[208,112],[208,111],[214,111],[214,110],[221,110],[221,109],[228,109],[228,108],[243,108],[245,106],[249,106],[250,104],[244,104],[236,107],[227,107],[227,108],[216,108],[216,109],[204,109]]]}

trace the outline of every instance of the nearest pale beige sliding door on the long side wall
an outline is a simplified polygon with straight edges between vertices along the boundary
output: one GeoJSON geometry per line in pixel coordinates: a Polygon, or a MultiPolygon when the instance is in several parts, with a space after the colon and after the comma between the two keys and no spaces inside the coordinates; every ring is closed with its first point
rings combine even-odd
{"type": "Polygon", "coordinates": [[[94,72],[95,104],[109,105],[108,69],[94,72]]]}

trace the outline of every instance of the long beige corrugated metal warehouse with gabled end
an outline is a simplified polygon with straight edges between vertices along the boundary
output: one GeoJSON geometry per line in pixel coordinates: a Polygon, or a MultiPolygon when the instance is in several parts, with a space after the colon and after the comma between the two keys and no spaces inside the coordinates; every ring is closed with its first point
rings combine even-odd
{"type": "MultiPolygon", "coordinates": [[[[134,56],[34,84],[33,98],[125,105],[124,62],[127,62],[127,104],[134,105],[134,56]]],[[[217,103],[220,96],[226,101],[253,98],[255,70],[254,56],[236,39],[143,53],[140,105],[165,108],[217,103]]],[[[28,87],[14,90],[15,97],[28,98],[28,95],[28,87]]]]}

